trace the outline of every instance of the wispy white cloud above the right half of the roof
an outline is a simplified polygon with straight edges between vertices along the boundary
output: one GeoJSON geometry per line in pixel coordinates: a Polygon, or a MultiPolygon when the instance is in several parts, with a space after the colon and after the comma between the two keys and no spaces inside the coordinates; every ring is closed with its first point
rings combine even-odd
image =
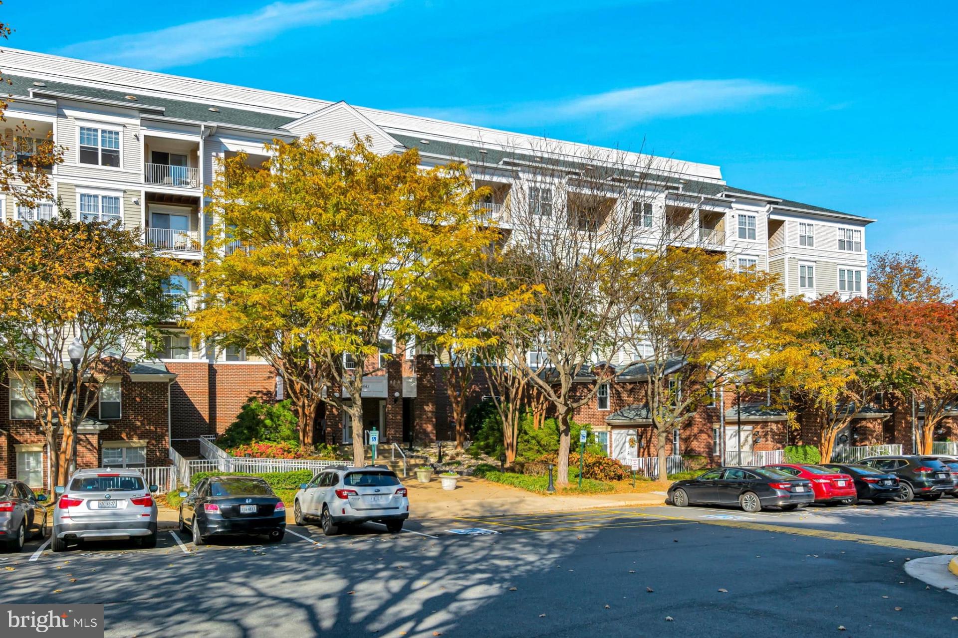
{"type": "Polygon", "coordinates": [[[689,79],[552,101],[464,109],[410,109],[424,116],[492,126],[531,126],[600,119],[616,129],[661,118],[737,111],[795,93],[785,84],[751,79],[689,79]]]}

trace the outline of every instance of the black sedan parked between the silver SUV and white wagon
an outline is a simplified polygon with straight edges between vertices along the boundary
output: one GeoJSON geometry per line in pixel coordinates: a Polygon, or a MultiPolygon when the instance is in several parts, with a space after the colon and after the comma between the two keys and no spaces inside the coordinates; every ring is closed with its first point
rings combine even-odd
{"type": "Polygon", "coordinates": [[[286,506],[262,478],[210,476],[180,496],[179,530],[192,534],[194,545],[212,536],[265,534],[279,542],[285,535],[286,506]]]}

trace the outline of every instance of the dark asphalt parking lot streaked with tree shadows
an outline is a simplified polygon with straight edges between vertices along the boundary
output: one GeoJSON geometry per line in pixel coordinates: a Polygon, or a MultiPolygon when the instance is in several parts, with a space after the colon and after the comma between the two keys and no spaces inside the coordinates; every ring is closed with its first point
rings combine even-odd
{"type": "Polygon", "coordinates": [[[955,545],[954,499],[647,507],[412,519],[398,535],[291,526],[275,544],[166,531],[155,549],[53,554],[34,540],[0,554],[0,588],[11,603],[103,602],[109,636],[947,635],[958,597],[902,566],[955,545]]]}

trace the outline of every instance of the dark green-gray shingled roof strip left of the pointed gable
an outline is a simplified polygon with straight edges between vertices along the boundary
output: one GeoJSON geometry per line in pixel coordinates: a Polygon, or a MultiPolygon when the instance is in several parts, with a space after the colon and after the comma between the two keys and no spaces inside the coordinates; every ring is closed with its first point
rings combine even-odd
{"type": "Polygon", "coordinates": [[[236,124],[238,126],[252,126],[255,128],[279,128],[285,123],[293,121],[284,115],[273,115],[271,113],[259,113],[257,111],[246,111],[229,106],[215,106],[218,112],[209,110],[213,104],[204,102],[190,102],[180,99],[157,98],[155,96],[145,96],[137,93],[124,93],[122,91],[108,91],[90,86],[80,86],[79,84],[67,84],[57,82],[51,79],[39,79],[36,77],[23,76],[4,76],[11,80],[8,92],[16,99],[16,96],[30,96],[34,91],[50,91],[52,93],[66,93],[84,98],[111,99],[118,102],[126,102],[130,105],[145,104],[147,106],[159,106],[164,109],[164,114],[168,118],[177,118],[180,120],[209,121],[218,124],[236,124]],[[46,86],[34,86],[34,81],[40,81],[46,86]],[[136,97],[136,101],[126,99],[126,96],[136,97]]]}

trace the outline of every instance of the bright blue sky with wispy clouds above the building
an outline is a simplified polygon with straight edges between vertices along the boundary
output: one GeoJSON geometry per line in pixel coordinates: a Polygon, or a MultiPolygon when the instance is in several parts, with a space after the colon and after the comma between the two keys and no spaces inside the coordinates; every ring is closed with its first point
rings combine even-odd
{"type": "Polygon", "coordinates": [[[718,164],[878,218],[871,252],[920,253],[958,288],[958,3],[89,6],[0,15],[18,48],[718,164]]]}

